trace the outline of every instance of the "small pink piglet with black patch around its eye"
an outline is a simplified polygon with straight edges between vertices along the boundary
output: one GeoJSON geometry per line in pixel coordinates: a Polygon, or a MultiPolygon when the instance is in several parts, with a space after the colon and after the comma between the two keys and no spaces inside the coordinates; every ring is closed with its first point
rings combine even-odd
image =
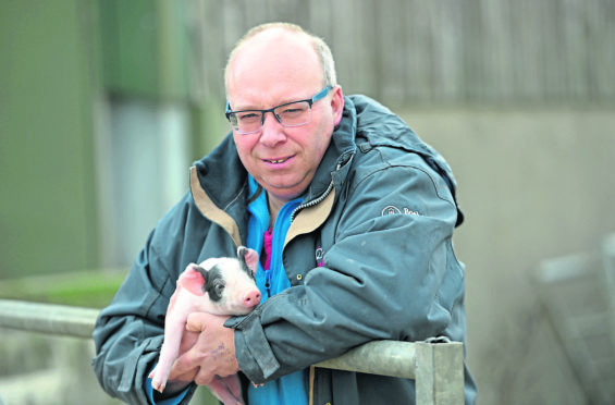
{"type": "MultiPolygon", "coordinates": [[[[244,246],[237,248],[236,259],[210,258],[198,266],[188,265],[167,309],[164,342],[158,365],[149,375],[153,389],[164,390],[189,314],[246,315],[260,304],[255,282],[257,268],[258,254],[244,246]]],[[[236,375],[217,378],[209,389],[225,405],[243,404],[236,375]]]]}

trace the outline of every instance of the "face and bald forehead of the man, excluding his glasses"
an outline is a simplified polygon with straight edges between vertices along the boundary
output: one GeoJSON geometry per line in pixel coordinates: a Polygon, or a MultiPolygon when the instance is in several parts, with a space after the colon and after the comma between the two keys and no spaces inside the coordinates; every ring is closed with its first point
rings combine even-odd
{"type": "MultiPolygon", "coordinates": [[[[323,87],[318,56],[303,38],[287,33],[261,34],[246,42],[234,59],[227,83],[234,111],[269,109],[309,99],[323,87]]],[[[269,193],[285,202],[298,197],[310,184],[340,121],[343,96],[340,87],[313,102],[310,121],[285,127],[272,113],[254,134],[234,132],[244,167],[269,193]]]]}

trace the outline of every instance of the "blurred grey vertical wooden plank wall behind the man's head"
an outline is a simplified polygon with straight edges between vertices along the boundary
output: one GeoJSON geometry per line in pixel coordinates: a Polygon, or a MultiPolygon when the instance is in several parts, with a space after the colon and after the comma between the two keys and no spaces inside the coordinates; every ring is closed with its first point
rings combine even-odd
{"type": "Polygon", "coordinates": [[[199,97],[249,27],[288,21],[323,37],[346,93],[389,103],[615,100],[615,0],[188,0],[199,97]]]}

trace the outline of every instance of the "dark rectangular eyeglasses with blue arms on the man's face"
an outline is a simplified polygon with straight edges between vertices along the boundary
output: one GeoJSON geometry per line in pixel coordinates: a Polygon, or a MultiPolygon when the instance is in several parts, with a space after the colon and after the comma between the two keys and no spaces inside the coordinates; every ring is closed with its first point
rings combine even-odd
{"type": "Polygon", "coordinates": [[[238,134],[247,135],[259,132],[265,123],[265,114],[271,112],[283,126],[300,126],[311,120],[311,105],[324,98],[333,86],[327,86],[312,98],[286,102],[268,110],[231,111],[231,102],[226,101],[226,120],[238,134]]]}

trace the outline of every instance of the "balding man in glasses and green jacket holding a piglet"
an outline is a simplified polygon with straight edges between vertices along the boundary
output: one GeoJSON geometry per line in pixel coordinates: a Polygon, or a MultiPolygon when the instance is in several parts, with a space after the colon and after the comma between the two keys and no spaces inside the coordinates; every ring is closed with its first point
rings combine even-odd
{"type": "Polygon", "coordinates": [[[232,136],[192,169],[190,192],[99,317],[101,385],[130,403],[183,404],[241,370],[250,405],[414,403],[411,380],[310,366],[372,340],[465,341],[450,168],[391,111],[344,97],[327,45],[295,25],[250,30],[225,81],[232,136]],[[156,396],[147,376],[175,280],[239,244],[261,253],[265,302],[245,317],[194,314],[156,396]]]}

